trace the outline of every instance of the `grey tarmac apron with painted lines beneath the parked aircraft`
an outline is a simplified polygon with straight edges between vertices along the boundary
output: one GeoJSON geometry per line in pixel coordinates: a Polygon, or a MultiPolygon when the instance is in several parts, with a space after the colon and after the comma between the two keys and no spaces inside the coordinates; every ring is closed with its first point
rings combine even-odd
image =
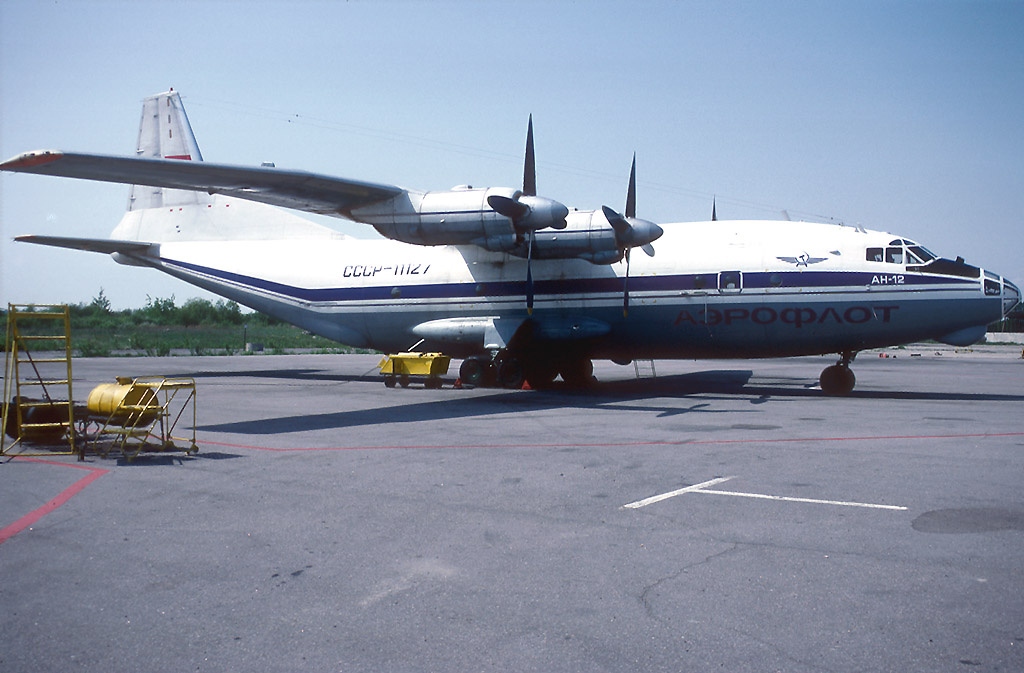
{"type": "Polygon", "coordinates": [[[200,452],[0,462],[0,671],[1022,671],[1020,349],[76,360],[195,377],[200,452]]]}

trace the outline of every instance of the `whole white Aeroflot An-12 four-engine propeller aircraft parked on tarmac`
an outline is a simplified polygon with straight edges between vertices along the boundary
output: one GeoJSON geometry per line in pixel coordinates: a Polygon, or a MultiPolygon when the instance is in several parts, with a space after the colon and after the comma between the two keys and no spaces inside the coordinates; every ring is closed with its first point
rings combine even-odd
{"type": "Polygon", "coordinates": [[[39,151],[0,169],[133,185],[110,239],[17,241],[151,266],[352,346],[440,350],[464,359],[471,384],[583,385],[593,359],[837,353],[821,389],[846,394],[858,351],[970,344],[1021,297],[898,235],[638,219],[635,158],[622,212],[567,208],[537,194],[532,120],[522,188],[417,192],[207,163],[173,89],[143,101],[134,157],[39,151]],[[385,240],[279,207],[365,222],[385,240]]]}

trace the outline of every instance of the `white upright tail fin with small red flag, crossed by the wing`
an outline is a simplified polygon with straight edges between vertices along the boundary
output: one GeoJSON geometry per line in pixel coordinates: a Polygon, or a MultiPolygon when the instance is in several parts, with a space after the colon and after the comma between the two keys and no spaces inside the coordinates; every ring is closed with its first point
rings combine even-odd
{"type": "MultiPolygon", "coordinates": [[[[181,96],[173,88],[142,101],[135,154],[154,159],[203,161],[181,96]]],[[[133,184],[128,210],[208,204],[210,201],[210,196],[201,192],[133,184]]]]}

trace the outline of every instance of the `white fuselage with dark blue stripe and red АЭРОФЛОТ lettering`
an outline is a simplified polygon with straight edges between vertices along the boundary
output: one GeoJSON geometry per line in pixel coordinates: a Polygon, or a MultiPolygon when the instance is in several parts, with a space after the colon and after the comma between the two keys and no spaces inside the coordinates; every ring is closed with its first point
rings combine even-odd
{"type": "MultiPolygon", "coordinates": [[[[880,232],[775,221],[663,226],[655,257],[633,255],[628,314],[625,263],[534,260],[532,321],[560,339],[579,329],[581,348],[598,357],[776,356],[967,339],[998,320],[1004,293],[1016,291],[983,271],[936,276],[908,269],[902,255],[868,260],[868,249],[900,241],[880,232]]],[[[284,240],[164,237],[159,267],[316,334],[384,351],[426,334],[455,354],[481,352],[488,344],[475,333],[418,326],[527,318],[521,258],[318,228],[284,240]]]]}

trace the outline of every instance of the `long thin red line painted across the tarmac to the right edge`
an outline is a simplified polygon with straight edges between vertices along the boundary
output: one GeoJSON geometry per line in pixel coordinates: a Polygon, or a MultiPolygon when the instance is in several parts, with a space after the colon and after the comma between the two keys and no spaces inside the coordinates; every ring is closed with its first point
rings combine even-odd
{"type": "Polygon", "coordinates": [[[879,436],[853,437],[775,437],[760,439],[694,439],[680,441],[584,441],[563,444],[473,444],[473,445],[380,445],[355,447],[257,447],[247,444],[230,444],[226,441],[211,441],[203,439],[199,444],[228,449],[249,449],[251,451],[269,451],[273,453],[302,453],[314,451],[396,451],[396,450],[429,450],[429,449],[607,449],[612,447],[685,447],[701,445],[743,445],[743,444],[796,444],[801,441],[880,441],[905,440],[922,441],[927,439],[972,439],[1020,437],[1024,432],[985,432],[976,434],[893,434],[879,436]]]}

